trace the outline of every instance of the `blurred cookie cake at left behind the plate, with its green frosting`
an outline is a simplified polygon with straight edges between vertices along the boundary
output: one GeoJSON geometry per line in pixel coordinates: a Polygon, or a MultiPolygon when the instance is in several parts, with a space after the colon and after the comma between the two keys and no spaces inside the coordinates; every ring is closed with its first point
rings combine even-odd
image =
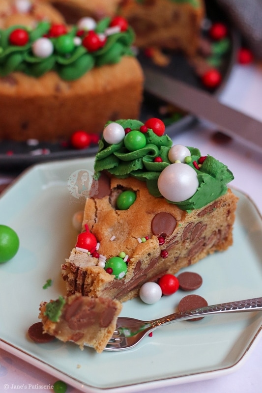
{"type": "Polygon", "coordinates": [[[139,116],[143,72],[133,42],[128,23],[109,17],[0,28],[0,140],[68,140],[139,116]]]}

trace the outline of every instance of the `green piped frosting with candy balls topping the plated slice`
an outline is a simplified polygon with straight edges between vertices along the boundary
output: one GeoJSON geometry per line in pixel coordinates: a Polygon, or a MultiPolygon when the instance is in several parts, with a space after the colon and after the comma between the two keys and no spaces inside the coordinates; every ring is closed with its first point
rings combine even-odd
{"type": "Polygon", "coordinates": [[[164,134],[164,123],[149,119],[107,123],[95,158],[95,176],[107,170],[118,178],[135,177],[146,182],[154,197],[165,197],[182,210],[199,209],[227,192],[233,173],[199,149],[174,145],[164,134]],[[149,121],[150,120],[150,121],[149,121]],[[162,130],[154,130],[154,122],[162,130]],[[152,128],[147,127],[149,124],[152,128]]]}

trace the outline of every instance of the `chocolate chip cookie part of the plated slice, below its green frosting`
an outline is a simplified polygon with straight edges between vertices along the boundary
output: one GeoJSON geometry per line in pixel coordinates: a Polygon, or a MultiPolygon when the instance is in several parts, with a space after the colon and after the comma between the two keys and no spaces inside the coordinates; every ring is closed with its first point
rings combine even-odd
{"type": "Polygon", "coordinates": [[[146,185],[136,179],[120,182],[121,187],[136,191],[135,203],[128,210],[116,210],[113,195],[119,179],[113,178],[109,196],[87,199],[84,224],[88,224],[100,242],[99,253],[107,258],[120,252],[129,255],[127,273],[116,279],[97,266],[97,258],[73,249],[61,266],[68,295],[79,292],[124,302],[138,296],[145,282],[157,281],[166,273],[176,274],[181,268],[208,254],[225,251],[233,244],[237,197],[231,190],[202,209],[187,213],[163,198],[152,197],[146,185]],[[173,224],[172,220],[171,224],[161,220],[166,214],[175,218],[173,224]],[[160,218],[160,224],[156,217],[160,218]],[[116,238],[112,241],[113,235],[116,238]],[[148,240],[139,243],[138,238],[143,236],[148,236],[148,240]],[[164,237],[163,244],[159,236],[164,237]]]}

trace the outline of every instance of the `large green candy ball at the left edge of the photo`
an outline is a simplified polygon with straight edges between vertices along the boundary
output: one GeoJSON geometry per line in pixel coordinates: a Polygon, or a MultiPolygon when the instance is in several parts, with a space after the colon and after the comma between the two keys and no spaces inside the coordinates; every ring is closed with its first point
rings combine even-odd
{"type": "Polygon", "coordinates": [[[0,263],[12,259],[19,249],[17,233],[7,225],[0,225],[0,263]]]}

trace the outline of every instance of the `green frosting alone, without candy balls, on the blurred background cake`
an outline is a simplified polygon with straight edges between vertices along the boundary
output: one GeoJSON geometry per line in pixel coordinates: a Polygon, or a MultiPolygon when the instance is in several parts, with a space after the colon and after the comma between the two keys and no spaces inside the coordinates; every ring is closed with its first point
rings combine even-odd
{"type": "MultiPolygon", "coordinates": [[[[105,33],[109,28],[111,19],[104,18],[97,23],[95,32],[105,33]]],[[[93,67],[101,67],[105,64],[114,64],[120,61],[122,56],[134,56],[131,45],[134,42],[134,32],[128,27],[126,31],[120,31],[106,38],[105,45],[94,52],[88,52],[83,45],[74,45],[73,51],[61,54],[58,50],[59,37],[50,37],[54,46],[52,55],[42,58],[32,52],[32,44],[38,38],[48,36],[49,22],[40,22],[38,26],[29,30],[25,26],[12,26],[0,29],[0,76],[4,77],[14,71],[20,71],[33,77],[40,77],[48,71],[54,70],[60,78],[73,81],[81,78],[93,67]],[[26,29],[29,33],[29,42],[23,46],[12,45],[9,42],[10,33],[17,28],[26,29]]],[[[74,26],[66,36],[74,39],[77,27],[74,26]]]]}

